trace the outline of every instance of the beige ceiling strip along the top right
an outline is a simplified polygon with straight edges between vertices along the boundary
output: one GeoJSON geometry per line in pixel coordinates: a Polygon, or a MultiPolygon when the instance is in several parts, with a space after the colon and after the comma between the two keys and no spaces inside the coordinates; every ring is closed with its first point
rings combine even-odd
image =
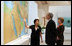
{"type": "Polygon", "coordinates": [[[71,1],[35,1],[38,5],[64,6],[71,5],[71,1]]]}

